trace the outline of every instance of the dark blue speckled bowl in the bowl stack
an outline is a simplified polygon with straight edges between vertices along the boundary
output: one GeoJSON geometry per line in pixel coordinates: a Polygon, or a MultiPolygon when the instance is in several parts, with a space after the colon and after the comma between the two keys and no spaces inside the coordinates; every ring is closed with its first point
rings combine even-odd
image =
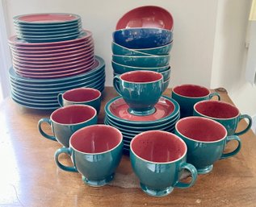
{"type": "Polygon", "coordinates": [[[128,28],[114,31],[113,39],[125,48],[157,48],[170,43],[173,32],[159,28],[128,28]]]}

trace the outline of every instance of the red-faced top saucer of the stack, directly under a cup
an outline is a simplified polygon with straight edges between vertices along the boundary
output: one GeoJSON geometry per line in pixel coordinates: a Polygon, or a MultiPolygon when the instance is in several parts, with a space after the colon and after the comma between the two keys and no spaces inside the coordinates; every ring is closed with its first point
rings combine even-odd
{"type": "Polygon", "coordinates": [[[116,117],[125,119],[128,121],[136,121],[136,122],[149,122],[149,121],[154,121],[160,118],[165,118],[166,116],[174,112],[175,106],[171,101],[167,100],[165,97],[160,97],[159,101],[155,106],[156,111],[151,115],[148,115],[148,116],[132,115],[128,112],[128,108],[129,108],[128,105],[125,103],[122,97],[112,102],[111,106],[109,106],[109,110],[116,117]]]}

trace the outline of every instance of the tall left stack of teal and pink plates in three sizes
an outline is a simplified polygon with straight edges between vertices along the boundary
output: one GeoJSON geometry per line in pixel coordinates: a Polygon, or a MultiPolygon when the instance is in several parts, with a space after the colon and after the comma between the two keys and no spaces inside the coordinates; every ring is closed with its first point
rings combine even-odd
{"type": "Polygon", "coordinates": [[[92,33],[77,14],[24,14],[14,18],[9,39],[11,97],[39,110],[59,107],[57,94],[90,87],[103,91],[105,63],[94,56],[92,33]]]}

